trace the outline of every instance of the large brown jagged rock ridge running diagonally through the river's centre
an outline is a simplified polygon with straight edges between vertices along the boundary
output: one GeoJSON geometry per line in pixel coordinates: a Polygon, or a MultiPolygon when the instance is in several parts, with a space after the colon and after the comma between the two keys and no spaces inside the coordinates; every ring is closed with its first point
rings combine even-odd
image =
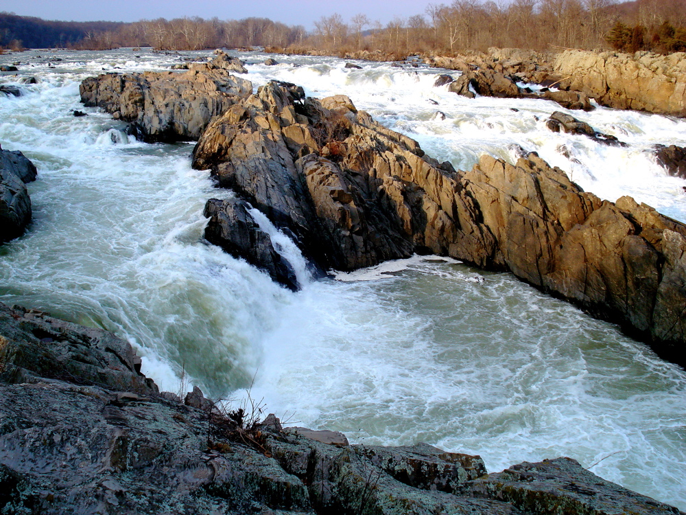
{"type": "Polygon", "coordinates": [[[455,172],[342,95],[270,82],[215,119],[193,156],[324,267],[418,252],[511,271],[684,363],[686,226],[600,201],[533,153],[455,172]]]}

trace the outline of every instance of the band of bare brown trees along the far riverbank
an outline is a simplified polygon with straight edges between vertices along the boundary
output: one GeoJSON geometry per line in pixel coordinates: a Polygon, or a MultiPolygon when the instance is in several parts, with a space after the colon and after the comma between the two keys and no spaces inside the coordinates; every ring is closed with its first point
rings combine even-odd
{"type": "Polygon", "coordinates": [[[64,22],[0,13],[0,49],[110,49],[150,46],[161,51],[270,47],[281,52],[344,55],[381,52],[451,55],[488,47],[686,51],[686,0],[454,0],[382,25],[360,13],[322,16],[314,30],[266,18],[222,21],[198,17],[134,23],[64,22]]]}

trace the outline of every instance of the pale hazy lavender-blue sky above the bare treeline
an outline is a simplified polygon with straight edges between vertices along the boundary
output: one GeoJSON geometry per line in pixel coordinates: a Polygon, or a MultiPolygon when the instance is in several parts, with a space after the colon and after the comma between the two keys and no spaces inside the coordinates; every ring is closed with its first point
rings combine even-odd
{"type": "MultiPolygon", "coordinates": [[[[344,21],[350,21],[362,12],[372,21],[391,21],[395,16],[407,18],[423,14],[431,0],[0,0],[0,11],[22,16],[38,16],[47,20],[62,21],[138,21],[154,18],[181,18],[200,16],[220,20],[259,16],[287,25],[305,25],[314,28],[314,21],[338,12],[344,21]]],[[[444,0],[443,3],[450,3],[444,0]]]]}

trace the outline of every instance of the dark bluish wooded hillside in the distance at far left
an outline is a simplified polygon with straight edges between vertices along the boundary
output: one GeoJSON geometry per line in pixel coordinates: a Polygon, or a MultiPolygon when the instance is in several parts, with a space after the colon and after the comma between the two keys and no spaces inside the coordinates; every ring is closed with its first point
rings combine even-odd
{"type": "Polygon", "coordinates": [[[114,32],[122,25],[116,21],[48,21],[0,12],[0,46],[8,47],[16,41],[27,48],[67,47],[88,34],[114,32]]]}

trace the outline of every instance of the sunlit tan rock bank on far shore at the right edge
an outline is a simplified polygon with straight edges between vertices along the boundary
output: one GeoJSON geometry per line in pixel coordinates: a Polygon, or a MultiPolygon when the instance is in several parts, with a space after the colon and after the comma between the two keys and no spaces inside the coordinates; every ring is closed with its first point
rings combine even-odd
{"type": "Polygon", "coordinates": [[[618,54],[567,50],[553,62],[564,89],[604,106],[686,116],[686,54],[618,54]]]}

